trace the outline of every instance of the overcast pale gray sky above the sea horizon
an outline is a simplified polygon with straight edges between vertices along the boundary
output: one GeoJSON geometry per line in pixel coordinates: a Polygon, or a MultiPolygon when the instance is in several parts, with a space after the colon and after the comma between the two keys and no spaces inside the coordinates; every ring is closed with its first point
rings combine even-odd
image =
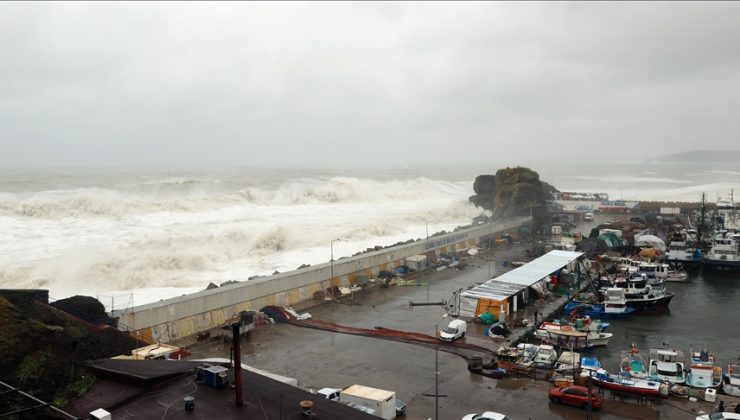
{"type": "Polygon", "coordinates": [[[735,149],[740,3],[1,3],[0,165],[735,149]]]}

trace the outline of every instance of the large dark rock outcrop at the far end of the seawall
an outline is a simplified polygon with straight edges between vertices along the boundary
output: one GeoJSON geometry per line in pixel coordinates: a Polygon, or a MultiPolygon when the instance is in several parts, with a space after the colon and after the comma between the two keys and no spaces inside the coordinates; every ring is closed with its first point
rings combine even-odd
{"type": "Polygon", "coordinates": [[[499,169],[495,175],[479,175],[475,178],[473,190],[475,195],[470,197],[470,201],[490,210],[493,219],[531,214],[535,232],[549,224],[546,203],[552,193],[558,191],[541,181],[537,172],[519,166],[499,169]]]}

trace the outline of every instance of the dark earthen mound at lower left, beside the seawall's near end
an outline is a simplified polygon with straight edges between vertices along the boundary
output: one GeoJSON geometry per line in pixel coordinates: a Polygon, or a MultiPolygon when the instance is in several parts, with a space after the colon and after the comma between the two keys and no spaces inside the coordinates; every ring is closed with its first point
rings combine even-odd
{"type": "MultiPolygon", "coordinates": [[[[80,308],[85,312],[100,315],[100,302],[98,307],[89,299],[72,302],[84,303],[80,308]]],[[[0,319],[3,381],[56,406],[92,386],[87,361],[131,354],[139,344],[115,328],[79,319],[43,301],[15,305],[0,296],[0,319]]]]}

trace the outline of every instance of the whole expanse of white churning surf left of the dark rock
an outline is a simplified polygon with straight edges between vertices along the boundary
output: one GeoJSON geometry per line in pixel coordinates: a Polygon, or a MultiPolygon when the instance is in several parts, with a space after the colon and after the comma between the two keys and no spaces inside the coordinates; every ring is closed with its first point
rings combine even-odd
{"type": "Polygon", "coordinates": [[[352,177],[4,193],[0,287],[60,298],[244,281],[326,262],[337,238],[335,258],[467,224],[480,214],[469,193],[467,182],[352,177]]]}

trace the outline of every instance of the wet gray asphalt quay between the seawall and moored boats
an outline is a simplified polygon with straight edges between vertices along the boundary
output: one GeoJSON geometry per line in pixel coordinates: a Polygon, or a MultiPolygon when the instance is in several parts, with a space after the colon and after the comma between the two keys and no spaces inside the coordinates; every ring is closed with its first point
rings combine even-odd
{"type": "MultiPolygon", "coordinates": [[[[387,328],[434,334],[444,314],[440,306],[409,308],[409,300],[448,300],[454,290],[486,281],[489,271],[500,274],[500,260],[517,260],[517,250],[499,252],[499,261],[482,259],[465,270],[445,270],[420,278],[426,286],[399,286],[360,294],[354,301],[328,303],[309,312],[315,319],[344,325],[387,328]]],[[[519,251],[521,252],[521,251],[519,251]]],[[[444,320],[447,321],[447,320],[444,320]]],[[[445,322],[440,322],[442,327],[445,322]]],[[[468,324],[466,340],[497,348],[500,343],[482,335],[483,328],[468,324]]],[[[193,358],[229,354],[229,344],[211,341],[194,348],[193,358]]],[[[243,363],[299,380],[305,388],[343,388],[354,383],[394,390],[406,401],[408,419],[434,418],[435,351],[406,343],[311,330],[291,325],[272,325],[252,333],[242,344],[243,363]]],[[[586,411],[549,402],[553,386],[542,380],[508,378],[495,380],[473,375],[459,356],[438,352],[439,419],[460,419],[481,411],[497,411],[514,419],[585,419],[586,411]]],[[[660,399],[638,404],[605,393],[604,405],[594,419],[693,419],[698,410],[713,404],[660,399]]]]}

